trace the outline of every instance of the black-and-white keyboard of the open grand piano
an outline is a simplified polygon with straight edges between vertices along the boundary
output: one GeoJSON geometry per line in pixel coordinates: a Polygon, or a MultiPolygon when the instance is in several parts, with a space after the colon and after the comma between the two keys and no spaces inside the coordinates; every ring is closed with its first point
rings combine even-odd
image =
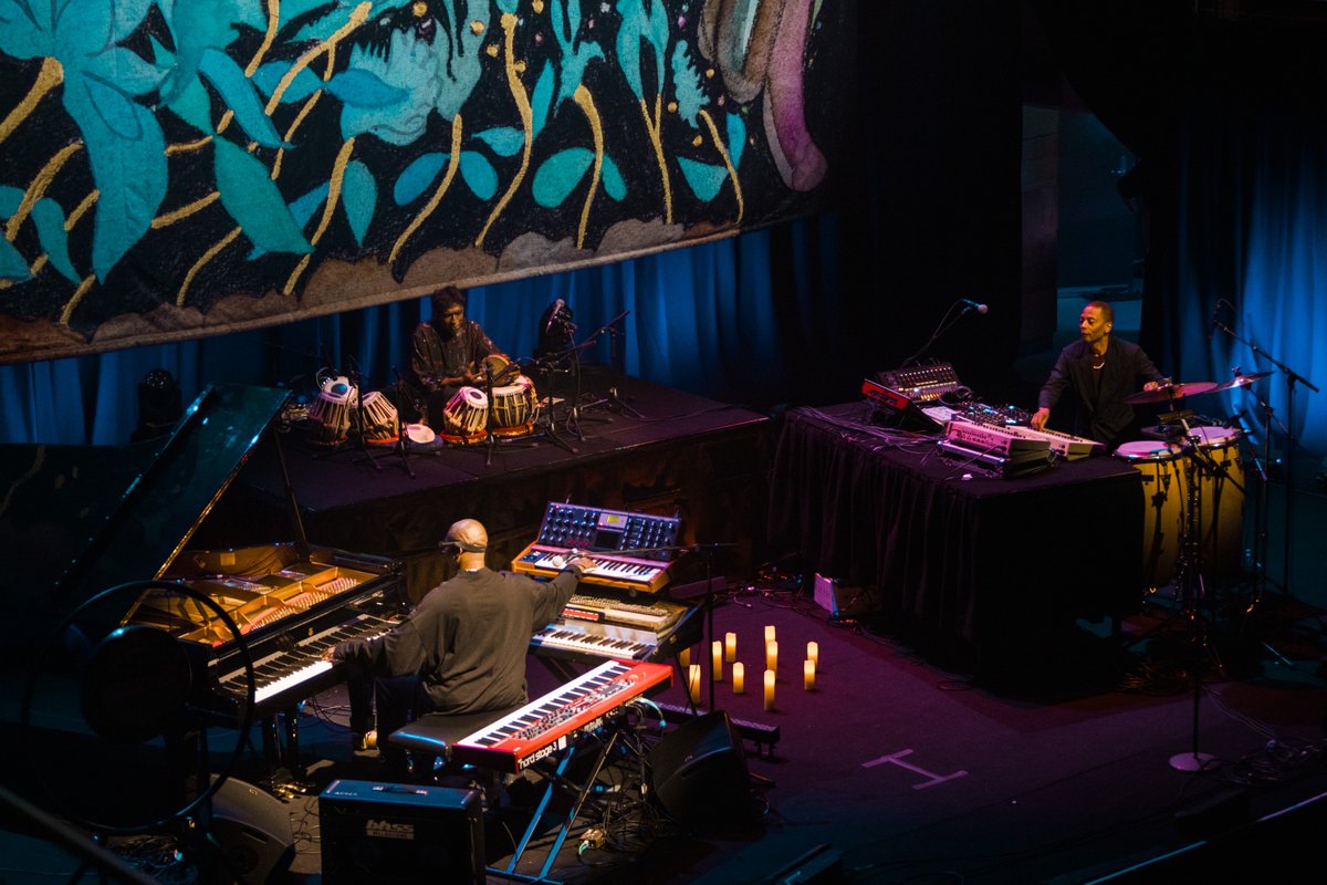
{"type": "MultiPolygon", "coordinates": [[[[276,710],[287,703],[297,703],[317,694],[338,679],[332,673],[337,665],[322,659],[322,653],[326,649],[348,640],[382,636],[394,626],[395,621],[378,614],[360,613],[349,621],[296,642],[291,649],[273,651],[253,661],[255,709],[272,707],[276,710]],[[281,702],[283,698],[287,703],[281,702]]],[[[227,673],[220,677],[218,683],[224,691],[243,701],[247,687],[243,669],[227,673]]]]}

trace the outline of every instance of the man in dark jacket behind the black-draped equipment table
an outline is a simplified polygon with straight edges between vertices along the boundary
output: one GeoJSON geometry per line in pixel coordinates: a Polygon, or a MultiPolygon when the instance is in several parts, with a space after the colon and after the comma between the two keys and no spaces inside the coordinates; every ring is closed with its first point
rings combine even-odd
{"type": "Polygon", "coordinates": [[[1089,301],[1083,308],[1080,338],[1066,345],[1055,361],[1036,398],[1032,430],[1046,429],[1051,409],[1068,387],[1078,399],[1071,433],[1105,443],[1105,451],[1137,435],[1133,407],[1124,398],[1137,393],[1140,385],[1154,390],[1164,378],[1143,348],[1111,337],[1113,325],[1115,310],[1105,301],[1089,301]]]}

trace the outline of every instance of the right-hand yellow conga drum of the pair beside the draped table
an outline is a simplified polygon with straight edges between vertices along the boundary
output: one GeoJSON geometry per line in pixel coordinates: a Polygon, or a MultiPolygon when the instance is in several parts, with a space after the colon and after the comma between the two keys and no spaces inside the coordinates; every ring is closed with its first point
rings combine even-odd
{"type": "Polygon", "coordinates": [[[1190,427],[1189,439],[1198,447],[1194,462],[1198,478],[1198,532],[1202,536],[1202,572],[1209,577],[1233,576],[1243,551],[1242,434],[1234,427],[1190,427]]]}

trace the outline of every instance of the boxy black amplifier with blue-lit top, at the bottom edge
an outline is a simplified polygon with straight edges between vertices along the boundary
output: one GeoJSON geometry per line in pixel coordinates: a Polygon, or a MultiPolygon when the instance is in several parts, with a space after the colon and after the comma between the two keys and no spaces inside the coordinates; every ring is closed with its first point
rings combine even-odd
{"type": "Polygon", "coordinates": [[[324,885],[484,885],[474,789],[333,780],[318,795],[324,885]]]}

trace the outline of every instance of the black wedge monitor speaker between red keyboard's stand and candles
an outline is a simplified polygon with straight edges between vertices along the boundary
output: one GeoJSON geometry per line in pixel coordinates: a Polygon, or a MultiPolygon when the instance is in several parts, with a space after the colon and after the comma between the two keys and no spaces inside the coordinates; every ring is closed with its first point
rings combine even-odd
{"type": "Polygon", "coordinates": [[[695,831],[751,823],[751,774],[736,728],[723,710],[683,722],[650,751],[654,797],[695,831]]]}

